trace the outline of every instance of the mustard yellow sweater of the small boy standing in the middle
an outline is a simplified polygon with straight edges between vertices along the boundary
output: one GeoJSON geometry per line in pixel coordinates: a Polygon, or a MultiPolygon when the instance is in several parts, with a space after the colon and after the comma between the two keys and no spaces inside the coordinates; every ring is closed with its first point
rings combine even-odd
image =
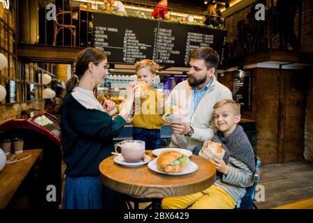
{"type": "Polygon", "coordinates": [[[149,130],[161,129],[162,125],[165,123],[162,118],[165,106],[163,108],[159,108],[158,114],[157,105],[158,100],[161,99],[164,99],[164,96],[161,94],[161,92],[150,86],[147,93],[147,98],[141,98],[141,107],[134,114],[134,118],[132,121],[134,128],[145,128],[149,130]]]}

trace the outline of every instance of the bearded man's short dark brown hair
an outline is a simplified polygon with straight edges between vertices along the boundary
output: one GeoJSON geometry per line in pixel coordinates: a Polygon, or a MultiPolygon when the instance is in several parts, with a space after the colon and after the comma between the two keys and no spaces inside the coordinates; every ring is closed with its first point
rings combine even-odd
{"type": "Polygon", "coordinates": [[[204,60],[207,68],[218,68],[220,62],[220,56],[215,49],[211,47],[199,47],[191,52],[190,57],[193,59],[204,60]]]}

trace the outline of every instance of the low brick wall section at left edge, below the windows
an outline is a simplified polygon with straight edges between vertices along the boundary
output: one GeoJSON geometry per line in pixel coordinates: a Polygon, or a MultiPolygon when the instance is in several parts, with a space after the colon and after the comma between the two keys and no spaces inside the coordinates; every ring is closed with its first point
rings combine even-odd
{"type": "Polygon", "coordinates": [[[45,110],[45,100],[37,100],[32,102],[24,102],[22,104],[0,105],[0,124],[6,122],[10,118],[17,118],[21,115],[22,110],[27,109],[45,110]]]}

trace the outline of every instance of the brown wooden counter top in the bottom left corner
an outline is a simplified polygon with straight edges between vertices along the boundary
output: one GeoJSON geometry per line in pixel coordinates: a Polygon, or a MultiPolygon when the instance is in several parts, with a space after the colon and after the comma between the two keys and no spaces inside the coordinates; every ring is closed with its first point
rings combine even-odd
{"type": "Polygon", "coordinates": [[[7,163],[0,171],[0,209],[6,208],[41,153],[42,149],[24,150],[18,155],[18,159],[31,156],[19,162],[7,163]]]}

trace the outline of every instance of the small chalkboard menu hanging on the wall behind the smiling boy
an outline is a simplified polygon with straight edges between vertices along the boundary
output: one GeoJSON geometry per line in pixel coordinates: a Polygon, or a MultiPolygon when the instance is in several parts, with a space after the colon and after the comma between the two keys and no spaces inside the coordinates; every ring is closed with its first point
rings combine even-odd
{"type": "Polygon", "coordinates": [[[235,72],[232,76],[232,98],[241,105],[241,111],[251,111],[252,108],[252,75],[250,70],[235,72]]]}

